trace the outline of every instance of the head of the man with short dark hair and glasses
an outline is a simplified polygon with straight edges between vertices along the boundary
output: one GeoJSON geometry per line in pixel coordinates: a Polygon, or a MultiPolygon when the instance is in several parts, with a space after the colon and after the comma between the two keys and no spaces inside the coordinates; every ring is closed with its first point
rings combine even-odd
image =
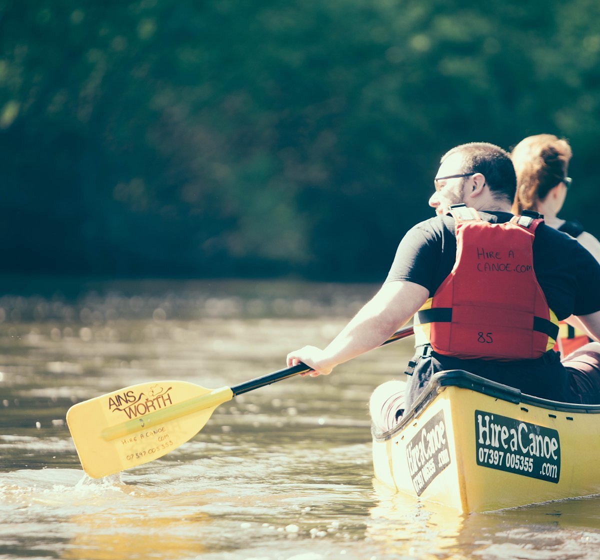
{"type": "Polygon", "coordinates": [[[487,142],[470,142],[446,152],[434,183],[429,205],[437,214],[460,203],[478,210],[510,211],[517,188],[508,153],[487,142]]]}

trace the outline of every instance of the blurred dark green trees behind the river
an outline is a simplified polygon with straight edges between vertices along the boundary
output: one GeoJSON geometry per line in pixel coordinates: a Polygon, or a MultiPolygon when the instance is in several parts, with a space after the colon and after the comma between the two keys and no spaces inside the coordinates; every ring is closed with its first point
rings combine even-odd
{"type": "Polygon", "coordinates": [[[5,271],[380,280],[437,161],[574,149],[600,235],[600,4],[0,0],[5,271]]]}

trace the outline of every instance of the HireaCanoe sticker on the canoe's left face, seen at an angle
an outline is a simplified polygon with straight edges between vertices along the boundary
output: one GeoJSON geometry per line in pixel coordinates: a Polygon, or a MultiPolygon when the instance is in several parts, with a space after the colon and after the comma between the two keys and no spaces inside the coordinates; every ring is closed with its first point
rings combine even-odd
{"type": "Polygon", "coordinates": [[[417,496],[450,464],[444,411],[430,418],[406,447],[410,477],[417,496]]]}

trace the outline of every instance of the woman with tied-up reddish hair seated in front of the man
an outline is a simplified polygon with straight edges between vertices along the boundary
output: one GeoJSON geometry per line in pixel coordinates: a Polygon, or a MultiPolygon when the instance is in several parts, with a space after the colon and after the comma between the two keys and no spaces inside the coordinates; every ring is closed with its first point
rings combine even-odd
{"type": "MultiPolygon", "coordinates": [[[[600,241],[584,231],[577,221],[557,217],[571,185],[567,170],[572,155],[569,143],[554,134],[535,134],[521,140],[511,153],[517,173],[517,194],[512,212],[520,214],[523,210],[533,210],[543,214],[548,226],[577,239],[600,262],[600,241]]],[[[563,355],[571,354],[587,342],[589,339],[581,331],[561,325],[558,346],[563,355]]]]}

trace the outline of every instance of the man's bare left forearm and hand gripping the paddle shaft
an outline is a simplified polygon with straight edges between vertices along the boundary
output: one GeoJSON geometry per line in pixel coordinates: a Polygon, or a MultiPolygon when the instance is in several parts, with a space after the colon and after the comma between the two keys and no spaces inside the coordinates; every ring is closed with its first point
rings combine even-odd
{"type": "Polygon", "coordinates": [[[287,365],[303,362],[314,370],[310,375],[328,375],[338,364],[380,346],[428,297],[428,289],[413,282],[385,283],[325,349],[304,346],[287,355],[287,365]]]}

